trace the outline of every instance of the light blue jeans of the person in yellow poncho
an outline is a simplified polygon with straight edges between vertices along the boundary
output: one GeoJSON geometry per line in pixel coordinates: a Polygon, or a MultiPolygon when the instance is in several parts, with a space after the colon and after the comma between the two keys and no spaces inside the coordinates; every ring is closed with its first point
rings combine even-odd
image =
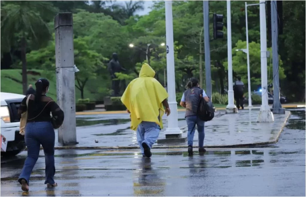
{"type": "Polygon", "coordinates": [[[144,148],[142,143],[146,143],[149,148],[158,138],[160,127],[155,122],[142,121],[137,127],[137,141],[140,147],[141,154],[144,155],[144,148]]]}

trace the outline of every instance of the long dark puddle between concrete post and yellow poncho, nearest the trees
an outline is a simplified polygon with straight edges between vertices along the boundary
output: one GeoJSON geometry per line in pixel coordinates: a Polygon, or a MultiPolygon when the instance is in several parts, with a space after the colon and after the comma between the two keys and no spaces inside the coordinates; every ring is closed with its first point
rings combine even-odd
{"type": "Polygon", "coordinates": [[[130,119],[107,119],[107,120],[96,120],[96,119],[88,119],[88,118],[77,118],[76,126],[92,126],[92,125],[118,125],[122,123],[130,122],[130,119]]]}

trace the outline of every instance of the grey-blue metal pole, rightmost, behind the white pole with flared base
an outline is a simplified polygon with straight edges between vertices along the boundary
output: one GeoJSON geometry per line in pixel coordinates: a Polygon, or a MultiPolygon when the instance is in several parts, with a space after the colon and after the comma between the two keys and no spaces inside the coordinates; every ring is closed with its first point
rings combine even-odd
{"type": "Polygon", "coordinates": [[[271,33],[272,33],[272,58],[273,58],[273,105],[271,111],[274,114],[285,114],[282,108],[279,93],[279,73],[278,73],[278,24],[276,1],[271,1],[271,33]]]}

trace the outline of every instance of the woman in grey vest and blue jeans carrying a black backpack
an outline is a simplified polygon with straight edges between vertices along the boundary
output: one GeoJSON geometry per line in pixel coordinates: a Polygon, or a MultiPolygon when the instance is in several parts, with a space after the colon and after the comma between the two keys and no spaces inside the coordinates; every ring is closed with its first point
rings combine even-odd
{"type": "Polygon", "coordinates": [[[204,90],[200,89],[199,81],[196,78],[191,78],[186,86],[188,89],[183,93],[180,105],[186,108],[185,119],[188,126],[188,155],[193,155],[193,137],[195,128],[197,126],[199,133],[199,153],[204,154],[204,121],[197,117],[197,109],[199,105],[199,99],[204,98],[207,102],[207,97],[204,90]]]}

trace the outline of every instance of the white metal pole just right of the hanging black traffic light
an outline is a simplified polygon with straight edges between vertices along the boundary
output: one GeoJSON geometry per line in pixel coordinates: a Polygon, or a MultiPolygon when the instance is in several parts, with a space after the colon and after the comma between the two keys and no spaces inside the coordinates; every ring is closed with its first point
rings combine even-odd
{"type": "Polygon", "coordinates": [[[232,25],[230,15],[230,1],[226,1],[227,12],[227,62],[228,62],[228,105],[226,106],[227,113],[237,113],[238,109],[234,104],[233,91],[233,67],[232,67],[232,25]]]}

